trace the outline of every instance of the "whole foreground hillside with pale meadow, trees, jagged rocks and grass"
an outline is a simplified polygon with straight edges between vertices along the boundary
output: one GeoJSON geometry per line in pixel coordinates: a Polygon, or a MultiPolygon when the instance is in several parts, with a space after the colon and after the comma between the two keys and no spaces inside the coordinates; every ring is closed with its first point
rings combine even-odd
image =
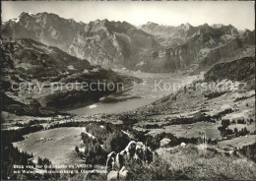
{"type": "MultiPolygon", "coordinates": [[[[26,134],[28,128],[25,127],[23,132],[17,133],[16,137],[11,137],[18,151],[30,155],[33,152],[33,160],[37,160],[37,157],[45,157],[53,164],[63,162],[81,164],[87,160],[87,164],[102,165],[87,175],[82,171],[72,175],[62,173],[57,175],[57,179],[255,179],[256,164],[253,150],[245,156],[242,150],[234,151],[213,143],[202,143],[200,138],[184,139],[172,134],[152,137],[132,130],[124,124],[93,123],[76,118],[73,122],[68,123],[63,120],[60,122],[49,124],[47,130],[28,135],[26,134]],[[170,144],[160,146],[162,138],[169,138],[170,144]],[[60,143],[59,140],[62,142],[60,143]],[[49,149],[42,151],[45,148],[49,149]],[[52,154],[52,151],[60,153],[52,154]],[[98,169],[106,172],[97,173],[98,169]]],[[[11,133],[4,132],[5,136],[11,133]]],[[[9,154],[12,155],[12,152],[9,154]]],[[[21,155],[18,154],[17,157],[19,156],[21,155]]],[[[10,160],[13,160],[12,157],[7,156],[4,163],[10,160]]],[[[11,166],[3,170],[4,176],[10,172],[10,169],[11,166]]],[[[15,174],[11,175],[12,178],[16,178],[15,174]]],[[[24,174],[24,176],[26,178],[30,174],[24,174]]],[[[50,178],[54,176],[51,175],[50,178]]]]}

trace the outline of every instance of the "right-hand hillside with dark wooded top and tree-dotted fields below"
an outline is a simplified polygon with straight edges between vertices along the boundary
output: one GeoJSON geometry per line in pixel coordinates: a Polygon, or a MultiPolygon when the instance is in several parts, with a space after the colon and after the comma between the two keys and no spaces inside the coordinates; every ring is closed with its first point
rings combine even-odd
{"type": "Polygon", "coordinates": [[[148,135],[205,135],[239,148],[255,142],[254,109],[255,58],[245,57],[217,64],[192,84],[123,116],[148,135]]]}

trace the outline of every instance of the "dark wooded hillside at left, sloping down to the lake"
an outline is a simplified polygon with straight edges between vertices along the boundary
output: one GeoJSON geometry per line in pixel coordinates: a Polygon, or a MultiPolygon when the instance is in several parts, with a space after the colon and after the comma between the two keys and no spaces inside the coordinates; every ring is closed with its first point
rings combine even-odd
{"type": "MultiPolygon", "coordinates": [[[[12,113],[22,114],[25,109],[35,111],[40,107],[59,109],[86,105],[116,91],[102,89],[103,85],[96,91],[84,91],[74,85],[70,90],[66,86],[68,83],[123,83],[126,87],[138,80],[92,66],[87,60],[29,38],[4,39],[2,50],[3,102],[11,102],[3,110],[12,113]]],[[[36,114],[34,111],[24,113],[36,114]]]]}

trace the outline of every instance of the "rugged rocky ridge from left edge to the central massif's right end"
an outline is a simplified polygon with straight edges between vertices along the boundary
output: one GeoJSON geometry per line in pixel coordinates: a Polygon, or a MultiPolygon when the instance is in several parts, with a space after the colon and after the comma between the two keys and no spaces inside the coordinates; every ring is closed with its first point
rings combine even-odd
{"type": "Polygon", "coordinates": [[[127,22],[89,24],[48,13],[22,13],[3,24],[4,37],[32,38],[103,67],[133,67],[141,51],[160,47],[154,36],[127,22]]]}

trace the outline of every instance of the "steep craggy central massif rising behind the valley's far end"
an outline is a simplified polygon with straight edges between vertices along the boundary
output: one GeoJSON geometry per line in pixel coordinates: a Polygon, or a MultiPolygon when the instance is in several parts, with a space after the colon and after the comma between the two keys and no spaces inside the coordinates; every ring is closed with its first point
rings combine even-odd
{"type": "Polygon", "coordinates": [[[160,47],[154,36],[126,22],[91,22],[70,45],[69,53],[105,67],[133,67],[140,53],[160,47]]]}

